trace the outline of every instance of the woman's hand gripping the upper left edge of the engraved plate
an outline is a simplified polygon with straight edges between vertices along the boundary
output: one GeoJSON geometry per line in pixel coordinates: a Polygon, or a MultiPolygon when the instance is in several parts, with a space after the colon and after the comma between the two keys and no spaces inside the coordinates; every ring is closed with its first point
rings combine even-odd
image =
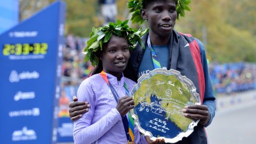
{"type": "Polygon", "coordinates": [[[132,97],[122,97],[118,100],[117,105],[116,105],[116,109],[119,111],[119,113],[121,114],[121,116],[125,116],[129,110],[134,108],[134,100],[132,99],[132,97]]]}

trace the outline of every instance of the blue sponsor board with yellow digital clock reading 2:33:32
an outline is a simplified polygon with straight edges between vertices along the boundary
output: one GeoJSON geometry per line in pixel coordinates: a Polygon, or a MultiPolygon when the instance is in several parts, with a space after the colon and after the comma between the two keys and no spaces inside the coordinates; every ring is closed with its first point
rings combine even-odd
{"type": "Polygon", "coordinates": [[[56,143],[66,4],[0,35],[1,143],[56,143]]]}

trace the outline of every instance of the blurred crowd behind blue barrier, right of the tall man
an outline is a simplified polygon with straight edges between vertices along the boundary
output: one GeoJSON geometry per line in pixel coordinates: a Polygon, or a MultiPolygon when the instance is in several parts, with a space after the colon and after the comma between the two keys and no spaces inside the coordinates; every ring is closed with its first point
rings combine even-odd
{"type": "Polygon", "coordinates": [[[210,63],[212,84],[216,93],[231,94],[256,89],[255,63],[210,63]]]}

